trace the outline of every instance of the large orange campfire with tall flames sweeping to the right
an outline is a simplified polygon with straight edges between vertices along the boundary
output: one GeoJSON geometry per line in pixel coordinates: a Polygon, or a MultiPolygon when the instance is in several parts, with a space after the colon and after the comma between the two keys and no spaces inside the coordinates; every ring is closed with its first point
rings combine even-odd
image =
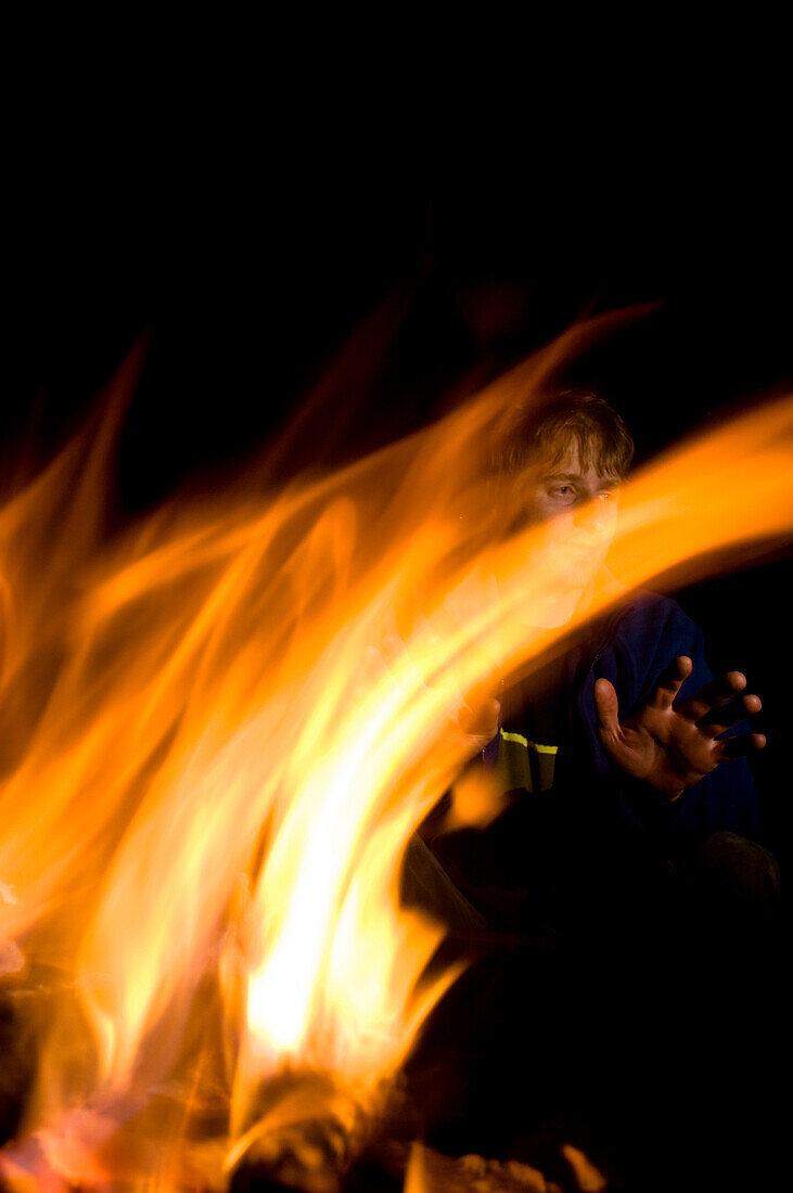
{"type": "MultiPolygon", "coordinates": [[[[107,542],[122,373],[0,511],[4,1187],[551,1187],[411,1136],[401,1074],[465,960],[399,873],[447,790],[459,823],[497,812],[460,712],[560,636],[513,616],[549,580],[487,463],[589,334],[335,474],[267,492],[264,462],[107,542]]],[[[789,534],[792,435],[785,398],[645,468],[621,583],[789,534]]]]}

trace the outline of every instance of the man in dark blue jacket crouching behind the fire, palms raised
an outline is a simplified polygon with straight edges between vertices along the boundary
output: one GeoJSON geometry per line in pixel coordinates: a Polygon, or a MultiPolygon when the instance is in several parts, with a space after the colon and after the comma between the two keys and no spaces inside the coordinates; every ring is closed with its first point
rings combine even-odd
{"type": "Polygon", "coordinates": [[[570,631],[549,662],[504,684],[484,754],[508,811],[484,833],[434,842],[492,927],[564,935],[596,929],[600,915],[608,929],[609,916],[639,914],[626,889],[655,903],[708,854],[729,854],[739,872],[770,865],[746,843],[760,810],[743,755],[766,740],[741,731],[761,709],[744,675],[713,679],[700,629],[669,598],[622,593],[586,620],[595,591],[619,591],[606,557],[632,455],[611,406],[568,390],[523,413],[496,462],[509,528],[539,528],[547,580],[519,616],[570,631]]]}

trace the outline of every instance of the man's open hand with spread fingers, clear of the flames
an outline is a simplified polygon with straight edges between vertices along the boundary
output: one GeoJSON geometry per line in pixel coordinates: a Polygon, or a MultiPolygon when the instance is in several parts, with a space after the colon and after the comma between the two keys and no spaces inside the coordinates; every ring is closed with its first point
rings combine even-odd
{"type": "Polygon", "coordinates": [[[762,707],[757,696],[738,697],[746,686],[741,672],[727,672],[673,707],[693,666],[686,655],[675,659],[650,698],[626,721],[619,719],[614,686],[607,679],[595,682],[603,749],[626,774],[644,780],[669,803],[720,762],[766,744],[763,734],[714,740],[762,707]]]}

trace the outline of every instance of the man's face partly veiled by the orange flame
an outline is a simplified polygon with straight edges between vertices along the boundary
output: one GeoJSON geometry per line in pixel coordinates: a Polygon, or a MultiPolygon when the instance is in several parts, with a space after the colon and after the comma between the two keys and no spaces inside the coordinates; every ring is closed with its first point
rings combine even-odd
{"type": "Polygon", "coordinates": [[[617,530],[619,484],[591,464],[582,466],[577,449],[529,472],[521,493],[523,518],[545,527],[538,563],[560,595],[584,589],[603,563],[617,530]]]}

